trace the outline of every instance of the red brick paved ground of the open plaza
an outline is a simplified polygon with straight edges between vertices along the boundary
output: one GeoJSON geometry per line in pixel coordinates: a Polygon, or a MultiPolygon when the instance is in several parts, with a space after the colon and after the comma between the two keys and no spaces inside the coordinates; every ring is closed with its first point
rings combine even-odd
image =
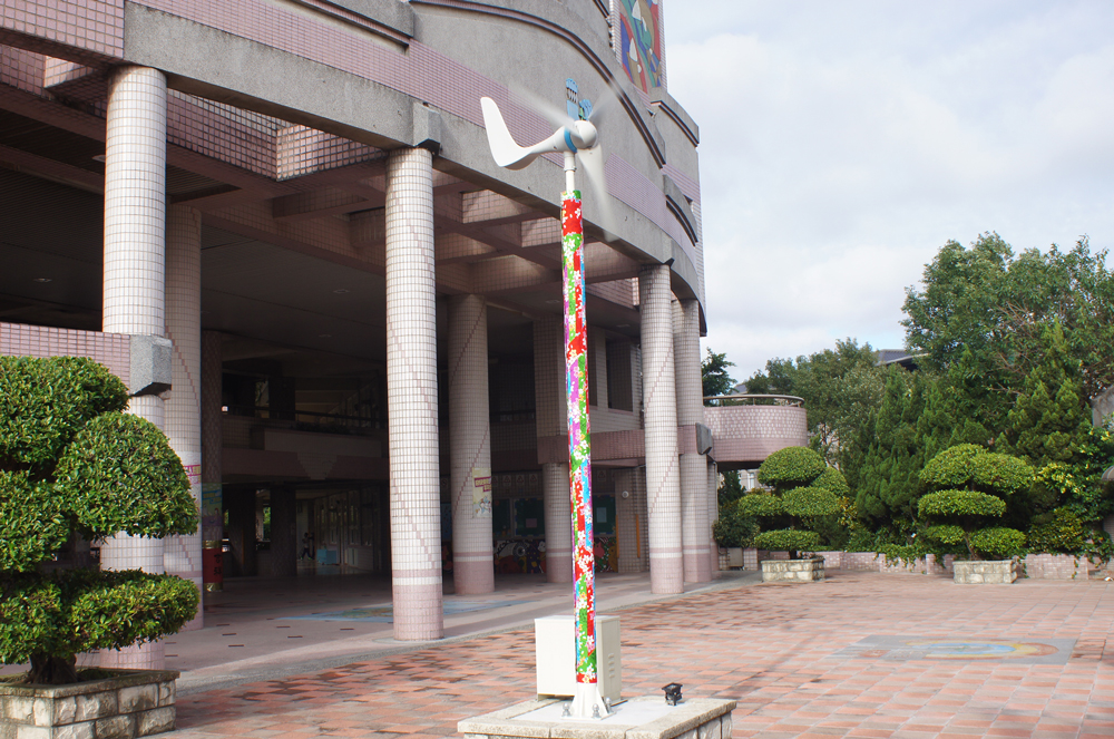
{"type": "MultiPolygon", "coordinates": [[[[832,573],[624,610],[624,694],[734,698],[734,737],[1114,737],[1114,583],[832,573]],[[1077,639],[1067,664],[833,657],[869,635],[1077,639]]],[[[532,632],[179,698],[176,737],[456,733],[531,697],[532,632]]]]}

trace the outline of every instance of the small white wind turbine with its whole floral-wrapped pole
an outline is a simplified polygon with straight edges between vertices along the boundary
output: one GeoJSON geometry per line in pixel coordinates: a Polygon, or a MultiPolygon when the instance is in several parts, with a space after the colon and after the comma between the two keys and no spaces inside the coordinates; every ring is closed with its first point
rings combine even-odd
{"type": "MultiPolygon", "coordinates": [[[[576,84],[566,82],[569,90],[576,84]]],[[[573,508],[574,631],[576,639],[576,692],[569,716],[603,718],[610,707],[599,693],[596,664],[596,560],[592,535],[592,445],[588,430],[588,325],[584,320],[584,222],[580,193],[576,189],[576,159],[580,158],[593,189],[609,214],[604,183],[599,133],[588,119],[556,121],[551,136],[529,147],[515,143],[499,106],[480,98],[483,126],[496,164],[522,169],[549,152],[565,155],[565,192],[561,193],[561,274],[565,293],[565,389],[568,408],[568,477],[573,508]]],[[[574,110],[569,104],[569,113],[574,110]]],[[[585,106],[588,107],[588,106],[585,106]]],[[[583,107],[578,107],[584,110],[583,107]]],[[[596,110],[598,110],[597,108],[596,110]]],[[[588,116],[593,117],[590,107],[588,116]]]]}

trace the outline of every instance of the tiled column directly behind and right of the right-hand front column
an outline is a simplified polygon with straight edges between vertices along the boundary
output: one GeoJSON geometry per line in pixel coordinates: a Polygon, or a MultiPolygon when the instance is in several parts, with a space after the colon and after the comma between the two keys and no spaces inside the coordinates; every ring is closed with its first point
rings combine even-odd
{"type": "MultiPolygon", "coordinates": [[[[700,303],[673,303],[673,366],[677,380],[677,425],[704,422],[704,399],[700,369],[700,303]]],[[[704,455],[682,454],[681,538],[685,582],[706,583],[712,578],[707,558],[707,460],[704,455]]]]}

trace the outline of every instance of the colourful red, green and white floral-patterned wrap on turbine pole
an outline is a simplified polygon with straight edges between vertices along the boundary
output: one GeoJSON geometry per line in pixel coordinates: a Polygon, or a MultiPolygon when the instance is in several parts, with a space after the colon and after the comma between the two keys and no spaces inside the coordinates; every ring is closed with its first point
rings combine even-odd
{"type": "Polygon", "coordinates": [[[580,192],[576,189],[561,194],[561,266],[565,288],[568,482],[573,508],[573,574],[576,582],[576,682],[577,688],[580,688],[582,683],[595,687],[596,682],[596,563],[592,537],[588,327],[584,322],[584,224],[580,192]]]}

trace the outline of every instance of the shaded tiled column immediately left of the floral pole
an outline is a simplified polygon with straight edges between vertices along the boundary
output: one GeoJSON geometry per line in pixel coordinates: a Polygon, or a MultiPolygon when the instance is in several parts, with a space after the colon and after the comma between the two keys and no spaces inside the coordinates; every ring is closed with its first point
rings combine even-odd
{"type": "MultiPolygon", "coordinates": [[[[565,414],[565,327],[561,319],[534,321],[534,406],[538,438],[568,436],[565,414]]],[[[564,445],[568,448],[568,444],[564,445]]],[[[546,578],[573,582],[573,518],[568,461],[543,463],[541,494],[546,507],[546,578]]]]}

